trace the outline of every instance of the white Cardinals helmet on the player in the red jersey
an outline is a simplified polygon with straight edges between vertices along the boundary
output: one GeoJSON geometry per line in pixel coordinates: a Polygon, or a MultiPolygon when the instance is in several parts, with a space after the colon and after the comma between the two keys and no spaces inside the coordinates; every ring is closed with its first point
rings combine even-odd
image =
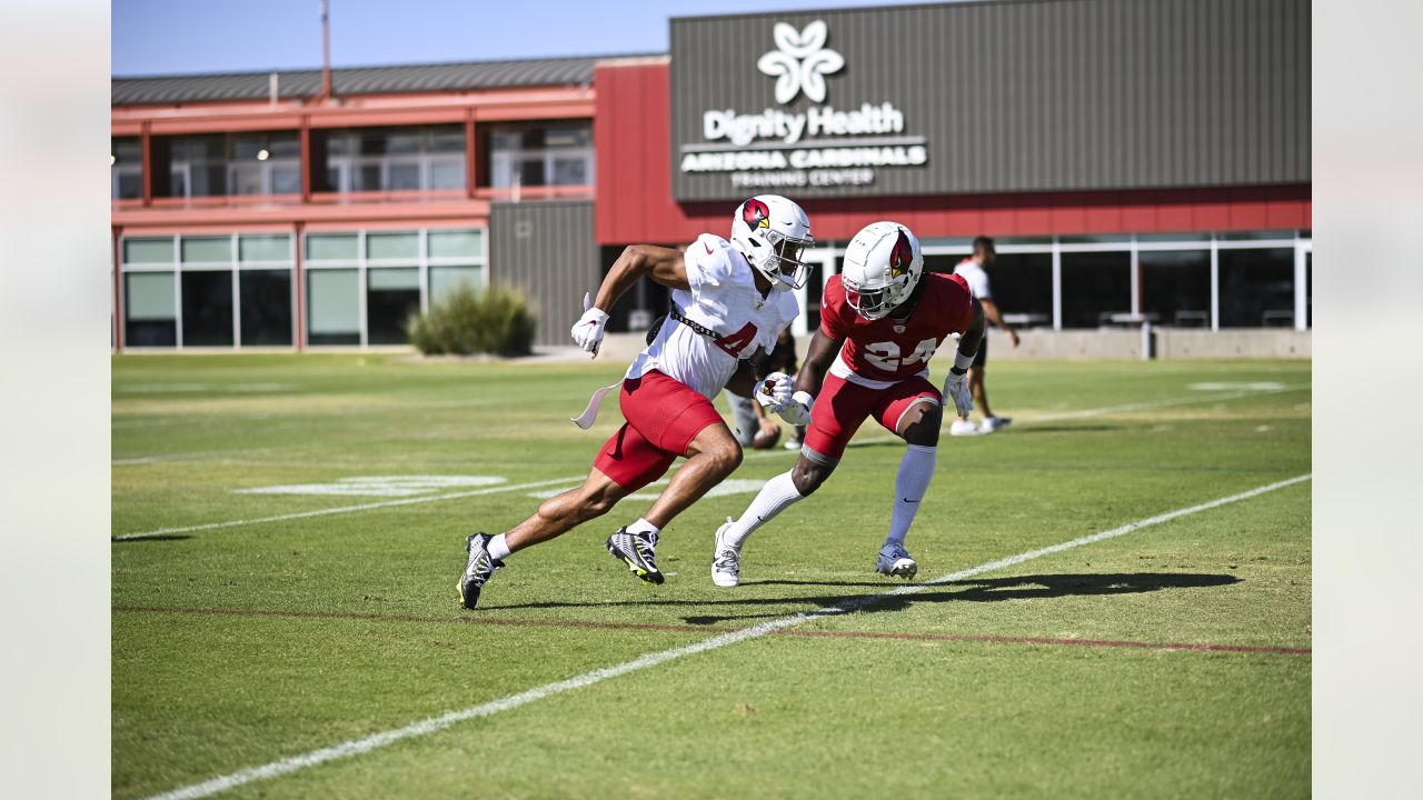
{"type": "Polygon", "coordinates": [[[882,319],[909,299],[921,275],[919,238],[898,222],[874,222],[845,248],[840,280],[850,307],[865,319],[882,319]]]}

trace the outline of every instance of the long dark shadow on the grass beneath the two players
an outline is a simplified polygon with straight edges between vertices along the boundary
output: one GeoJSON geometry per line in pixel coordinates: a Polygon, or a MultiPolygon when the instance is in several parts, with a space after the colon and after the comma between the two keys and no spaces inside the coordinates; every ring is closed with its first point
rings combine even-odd
{"type": "MultiPolygon", "coordinates": [[[[781,618],[785,609],[764,611],[768,605],[814,605],[820,609],[842,608],[847,614],[869,612],[882,614],[905,611],[918,604],[938,602],[999,602],[1009,599],[1049,599],[1062,596],[1093,596],[1093,595],[1128,595],[1141,592],[1155,592],[1161,589],[1192,589],[1205,586],[1228,586],[1241,579],[1234,575],[1205,575],[1191,572],[1110,572],[1110,574],[1066,574],[1066,575],[1019,575],[1013,578],[975,578],[943,584],[931,589],[924,589],[912,595],[851,594],[851,595],[807,595],[790,598],[747,596],[734,599],[636,599],[613,602],[529,602],[490,606],[501,609],[514,608],[592,608],[592,606],[713,606],[724,609],[756,608],[753,614],[723,614],[723,615],[692,615],[683,616],[689,625],[716,625],[719,622],[737,622],[761,618],[781,618]]],[[[741,586],[774,586],[774,585],[830,585],[830,586],[868,586],[872,589],[891,589],[895,582],[820,582],[820,581],[763,581],[741,586]]],[[[736,589],[733,589],[734,592],[736,589]]],[[[730,592],[729,592],[730,594],[730,592]]]]}

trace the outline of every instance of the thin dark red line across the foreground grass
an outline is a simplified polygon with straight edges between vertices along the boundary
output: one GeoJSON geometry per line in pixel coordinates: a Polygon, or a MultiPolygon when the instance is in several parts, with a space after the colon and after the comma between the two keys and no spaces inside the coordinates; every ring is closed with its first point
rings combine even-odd
{"type": "MultiPolygon", "coordinates": [[[[662,631],[667,633],[727,633],[739,628],[717,625],[646,625],[636,622],[583,622],[575,619],[512,619],[507,616],[418,616],[413,614],[361,614],[334,611],[276,611],[246,608],[159,608],[138,605],[115,605],[115,612],[138,614],[191,614],[218,616],[273,616],[299,619],[356,619],[374,622],[433,622],[507,625],[512,628],[582,628],[588,631],[662,631]]],[[[990,636],[966,633],[896,633],[884,631],[804,631],[787,628],[774,631],[773,636],[804,636],[831,639],[899,639],[915,642],[986,642],[995,645],[1072,645],[1084,648],[1138,648],[1150,651],[1215,651],[1231,653],[1274,653],[1311,655],[1311,648],[1278,648],[1266,645],[1218,645],[1210,642],[1133,642],[1116,639],[1063,639],[1052,636],[990,636]]]]}

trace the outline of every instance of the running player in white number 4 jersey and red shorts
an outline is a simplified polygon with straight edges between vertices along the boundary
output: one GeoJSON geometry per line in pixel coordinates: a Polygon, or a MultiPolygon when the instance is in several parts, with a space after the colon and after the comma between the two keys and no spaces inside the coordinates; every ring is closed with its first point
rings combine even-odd
{"type": "MultiPolygon", "coordinates": [[[[798,315],[790,290],[805,282],[801,253],[811,242],[801,206],[760,195],[736,209],[730,242],[703,233],[684,252],[650,245],[623,251],[572,336],[596,356],[608,309],[639,278],[672,289],[672,313],[623,379],[619,400],[626,421],[598,451],[583,485],[544,501],[507,532],[467,537],[468,561],[460,578],[464,608],[478,604],[481,588],[511,554],[606,514],[682,456],[687,461],[652,508],[605,542],[639,578],[662,584],[655,562],[657,534],[741,463],[741,447],[710,399],[723,387],[754,394],[777,410],[790,399],[787,376],[774,373],[756,383],[750,359],[774,347],[776,336],[798,315]]],[[[601,394],[589,406],[595,414],[596,400],[601,394]]]]}

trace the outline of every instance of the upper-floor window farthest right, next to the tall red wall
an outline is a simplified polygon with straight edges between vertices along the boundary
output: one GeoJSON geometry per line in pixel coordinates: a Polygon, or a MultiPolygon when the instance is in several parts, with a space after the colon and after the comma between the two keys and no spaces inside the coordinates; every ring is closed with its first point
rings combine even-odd
{"type": "Polygon", "coordinates": [[[487,128],[494,188],[588,186],[593,182],[592,122],[490,125],[487,128]]]}

